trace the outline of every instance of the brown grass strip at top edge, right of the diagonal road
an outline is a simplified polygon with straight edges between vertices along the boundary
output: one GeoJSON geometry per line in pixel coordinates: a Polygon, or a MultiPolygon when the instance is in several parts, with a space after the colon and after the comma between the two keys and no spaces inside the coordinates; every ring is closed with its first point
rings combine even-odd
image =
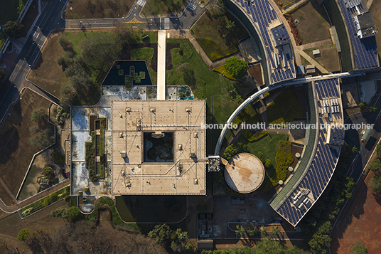
{"type": "Polygon", "coordinates": [[[134,0],[70,0],[66,6],[66,18],[117,18],[129,14],[134,0]]]}

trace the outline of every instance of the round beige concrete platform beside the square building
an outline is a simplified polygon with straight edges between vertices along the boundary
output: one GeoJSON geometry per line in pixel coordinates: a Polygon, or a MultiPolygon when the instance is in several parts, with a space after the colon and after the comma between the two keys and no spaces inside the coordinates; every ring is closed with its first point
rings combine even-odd
{"type": "Polygon", "coordinates": [[[252,154],[235,154],[225,166],[225,180],[233,190],[247,194],[261,186],[264,166],[252,154]]]}

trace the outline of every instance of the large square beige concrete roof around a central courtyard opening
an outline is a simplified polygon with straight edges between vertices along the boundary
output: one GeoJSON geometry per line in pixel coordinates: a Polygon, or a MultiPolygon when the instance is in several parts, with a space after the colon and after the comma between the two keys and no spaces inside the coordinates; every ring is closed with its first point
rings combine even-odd
{"type": "Polygon", "coordinates": [[[112,194],[205,195],[205,116],[205,100],[112,100],[112,194]],[[173,162],[144,162],[144,132],[173,132],[173,162]]]}

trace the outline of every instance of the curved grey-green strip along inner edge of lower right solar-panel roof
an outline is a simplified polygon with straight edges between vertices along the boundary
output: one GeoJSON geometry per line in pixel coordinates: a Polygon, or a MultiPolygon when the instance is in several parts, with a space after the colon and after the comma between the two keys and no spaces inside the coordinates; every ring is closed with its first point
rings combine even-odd
{"type": "MultiPolygon", "coordinates": [[[[306,93],[307,93],[307,106],[308,106],[308,123],[317,124],[318,119],[316,118],[316,107],[315,101],[313,100],[313,88],[312,83],[308,83],[306,85],[306,93]]],[[[316,152],[316,141],[318,139],[318,132],[316,128],[307,129],[306,135],[306,144],[303,158],[299,164],[299,167],[296,169],[295,174],[291,176],[291,179],[284,185],[284,188],[279,191],[277,196],[272,200],[270,206],[277,211],[279,206],[289,197],[292,191],[298,186],[303,177],[306,175],[308,171],[309,165],[311,164],[311,157],[316,152]],[[309,132],[309,134],[308,134],[309,132]]]]}

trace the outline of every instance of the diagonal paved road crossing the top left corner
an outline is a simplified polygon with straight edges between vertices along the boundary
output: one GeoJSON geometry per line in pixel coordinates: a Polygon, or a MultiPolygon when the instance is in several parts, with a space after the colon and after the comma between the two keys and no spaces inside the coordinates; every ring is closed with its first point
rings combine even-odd
{"type": "Polygon", "coordinates": [[[64,6],[63,1],[49,1],[41,12],[36,25],[33,26],[30,36],[26,38],[26,43],[11,70],[9,80],[4,82],[3,88],[0,90],[0,121],[8,111],[9,105],[18,97],[18,89],[28,73],[29,65],[33,65],[35,62],[46,36],[61,20],[60,13],[64,6]]]}

